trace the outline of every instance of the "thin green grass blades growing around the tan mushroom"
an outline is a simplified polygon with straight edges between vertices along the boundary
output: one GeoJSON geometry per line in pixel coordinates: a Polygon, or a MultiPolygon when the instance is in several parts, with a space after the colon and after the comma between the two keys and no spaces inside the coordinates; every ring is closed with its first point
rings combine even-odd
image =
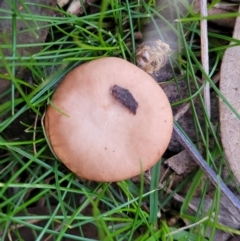
{"type": "MultiPolygon", "coordinates": [[[[218,123],[213,124],[204,115],[204,127],[195,106],[198,99],[201,111],[206,113],[201,95],[204,84],[199,84],[197,79],[205,74],[199,60],[200,17],[193,12],[192,6],[184,0],[171,1],[167,6],[156,6],[154,0],[111,0],[108,5],[107,1],[103,1],[102,6],[96,4],[95,13],[89,14],[85,10],[82,17],[69,15],[60,8],[54,8],[56,15],[46,17],[32,13],[31,7],[35,3],[20,2],[25,11],[18,11],[16,1],[10,0],[7,3],[12,10],[0,9],[5,13],[0,16],[0,21],[1,18],[12,21],[12,44],[6,41],[0,48],[1,67],[5,69],[0,78],[12,83],[0,96],[4,98],[10,94],[10,100],[0,106],[0,240],[27,240],[22,237],[24,233],[31,237],[28,240],[208,240],[209,227],[210,240],[216,230],[239,234],[218,221],[218,189],[213,191],[211,208],[204,211],[210,184],[203,179],[201,170],[186,177],[171,192],[168,192],[171,179],[159,186],[164,159],[153,167],[150,180],[144,175],[137,183],[133,180],[118,183],[79,180],[56,161],[41,125],[54,88],[68,71],[83,62],[106,56],[118,56],[135,63],[134,33],[142,32],[145,24],[151,23],[153,28],[148,33],[143,32],[145,36],[157,36],[168,42],[166,34],[170,29],[177,37],[178,42],[173,47],[178,54],[170,59],[176,71],[173,81],[177,84],[178,73],[182,73],[188,86],[188,97],[172,103],[172,106],[191,104],[197,143],[203,146],[206,161],[221,175],[227,163],[218,123]],[[180,3],[186,10],[184,15],[179,12],[177,4],[180,3]],[[167,8],[178,21],[170,22],[164,18],[167,8]],[[19,19],[27,26],[20,32],[31,32],[36,39],[39,28],[49,28],[47,41],[18,44],[16,26],[19,19]],[[159,20],[165,23],[163,28],[158,27],[159,20]],[[41,50],[33,55],[19,56],[17,50],[26,46],[41,47],[41,50]],[[11,54],[4,54],[6,49],[10,49],[11,54]],[[21,68],[30,72],[29,80],[32,81],[15,77],[21,68]],[[192,85],[196,89],[194,92],[190,88],[192,85]],[[14,128],[22,131],[14,134],[14,128]],[[220,160],[218,165],[214,163],[217,158],[220,160]],[[172,210],[174,196],[189,182],[191,185],[180,208],[172,210]],[[200,190],[200,202],[196,212],[190,214],[188,207],[196,190],[200,190]],[[177,217],[177,221],[170,225],[169,217],[177,217]],[[88,226],[91,227],[88,234],[96,232],[98,235],[86,237],[88,226]]],[[[209,32],[211,66],[210,75],[205,77],[221,98],[224,97],[212,79],[219,71],[229,41],[232,41],[230,36],[209,32]]],[[[173,43],[169,42],[172,47],[173,43]]],[[[234,180],[231,173],[229,175],[234,180]]]]}

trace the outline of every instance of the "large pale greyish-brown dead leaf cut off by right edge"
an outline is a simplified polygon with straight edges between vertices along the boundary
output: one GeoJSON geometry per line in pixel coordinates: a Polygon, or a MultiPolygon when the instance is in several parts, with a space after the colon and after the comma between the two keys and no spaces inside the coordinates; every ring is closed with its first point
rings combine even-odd
{"type": "MultiPolygon", "coordinates": [[[[240,12],[240,9],[239,9],[240,12]]],[[[233,38],[240,40],[240,17],[233,38]]],[[[240,112],[240,46],[229,47],[221,65],[220,90],[233,108],[240,112]]],[[[221,138],[225,155],[233,174],[240,181],[240,120],[220,99],[221,138]]]]}

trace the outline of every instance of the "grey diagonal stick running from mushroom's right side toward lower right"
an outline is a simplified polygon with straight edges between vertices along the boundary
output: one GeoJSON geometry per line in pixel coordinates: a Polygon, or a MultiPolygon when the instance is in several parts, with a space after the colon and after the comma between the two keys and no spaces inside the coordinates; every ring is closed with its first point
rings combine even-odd
{"type": "Polygon", "coordinates": [[[174,134],[176,135],[179,142],[186,149],[189,155],[194,159],[194,161],[202,168],[211,182],[217,187],[220,188],[225,197],[232,203],[232,205],[240,211],[240,200],[231,192],[231,190],[226,186],[220,177],[212,170],[212,168],[207,164],[203,159],[199,151],[196,149],[194,144],[186,138],[182,131],[179,129],[176,123],[173,126],[174,134]]]}

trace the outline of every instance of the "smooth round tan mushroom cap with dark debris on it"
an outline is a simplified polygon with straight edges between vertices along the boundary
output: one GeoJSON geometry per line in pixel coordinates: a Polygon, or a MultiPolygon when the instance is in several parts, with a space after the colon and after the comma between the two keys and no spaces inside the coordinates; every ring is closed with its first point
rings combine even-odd
{"type": "Polygon", "coordinates": [[[75,68],[52,103],[45,117],[52,149],[72,172],[88,180],[113,182],[140,174],[159,160],[172,135],[172,111],[163,90],[120,58],[75,68]],[[114,85],[132,93],[136,114],[114,98],[114,85]]]}

